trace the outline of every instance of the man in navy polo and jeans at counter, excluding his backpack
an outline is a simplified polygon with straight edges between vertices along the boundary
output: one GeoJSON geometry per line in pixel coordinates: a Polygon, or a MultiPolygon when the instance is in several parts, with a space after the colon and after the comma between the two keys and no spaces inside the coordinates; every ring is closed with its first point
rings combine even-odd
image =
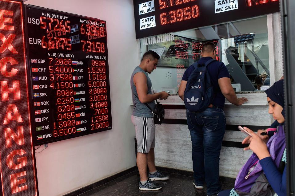
{"type": "MultiPolygon", "coordinates": [[[[198,66],[215,59],[216,46],[212,42],[206,42],[203,45],[201,56],[198,66]]],[[[194,66],[191,65],[182,77],[178,90],[182,100],[184,99],[187,80],[194,69],[194,66]]],[[[248,100],[245,97],[237,98],[230,82],[228,69],[224,63],[211,62],[207,66],[207,72],[210,75],[215,97],[205,111],[191,112],[187,110],[186,116],[192,140],[193,185],[197,189],[203,189],[204,182],[206,182],[207,195],[214,196],[221,191],[218,177],[219,155],[225,133],[226,120],[223,112],[225,98],[237,106],[248,100]]]]}

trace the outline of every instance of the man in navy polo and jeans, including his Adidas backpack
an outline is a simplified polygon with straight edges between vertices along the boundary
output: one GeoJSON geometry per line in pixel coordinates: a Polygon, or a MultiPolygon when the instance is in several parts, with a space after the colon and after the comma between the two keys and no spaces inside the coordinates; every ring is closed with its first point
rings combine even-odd
{"type": "Polygon", "coordinates": [[[185,102],[186,117],[192,140],[193,185],[207,195],[215,196],[222,189],[219,185],[219,155],[225,133],[225,98],[234,105],[248,101],[237,98],[224,63],[216,61],[216,46],[206,42],[202,58],[186,69],[178,90],[185,102]]]}

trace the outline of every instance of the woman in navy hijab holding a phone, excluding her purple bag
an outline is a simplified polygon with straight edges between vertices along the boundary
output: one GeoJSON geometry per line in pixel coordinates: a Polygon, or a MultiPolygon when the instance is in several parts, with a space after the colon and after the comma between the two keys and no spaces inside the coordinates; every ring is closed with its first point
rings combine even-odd
{"type": "MultiPolygon", "coordinates": [[[[284,81],[279,80],[273,84],[268,90],[265,91],[267,95],[267,102],[269,104],[269,114],[273,115],[273,118],[278,123],[282,124],[285,122],[285,102],[284,102],[284,81]]],[[[282,125],[283,126],[283,125],[282,125]]],[[[273,159],[270,156],[269,150],[265,144],[251,129],[244,127],[246,131],[251,133],[253,137],[247,137],[243,140],[243,144],[250,143],[249,148],[259,158],[259,163],[265,173],[270,186],[276,192],[278,196],[285,196],[287,193],[286,183],[286,168],[281,173],[276,167],[273,159]]],[[[248,148],[245,148],[247,150],[248,148]]],[[[221,191],[218,196],[229,196],[230,190],[221,191]]]]}

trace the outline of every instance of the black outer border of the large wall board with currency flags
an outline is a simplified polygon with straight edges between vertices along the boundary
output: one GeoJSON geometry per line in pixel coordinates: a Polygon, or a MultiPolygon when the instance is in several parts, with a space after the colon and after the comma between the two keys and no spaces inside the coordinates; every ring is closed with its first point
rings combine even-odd
{"type": "MultiPolygon", "coordinates": [[[[98,18],[92,18],[92,17],[87,17],[87,16],[82,16],[82,15],[78,15],[78,14],[72,14],[72,13],[67,13],[67,12],[63,12],[63,11],[59,11],[59,10],[53,10],[53,9],[48,9],[48,8],[44,8],[44,7],[39,7],[39,6],[34,6],[34,5],[24,5],[24,33],[26,35],[26,42],[25,42],[25,47],[26,47],[26,60],[27,60],[27,72],[28,72],[28,78],[30,78],[30,80],[28,81],[28,85],[30,85],[30,87],[28,86],[28,90],[29,90],[29,104],[30,104],[30,115],[31,115],[31,126],[32,126],[32,136],[34,137],[33,143],[34,146],[38,146],[38,145],[42,145],[42,144],[47,144],[47,143],[53,143],[53,142],[57,142],[57,141],[62,141],[65,139],[71,139],[71,138],[76,138],[76,137],[80,137],[80,136],[84,136],[84,135],[89,135],[89,134],[94,134],[94,133],[98,133],[98,132],[102,132],[102,131],[107,131],[107,130],[111,130],[113,128],[113,123],[112,123],[112,113],[111,113],[111,100],[110,100],[110,74],[109,74],[109,57],[108,57],[108,45],[107,45],[107,29],[106,29],[106,44],[105,44],[105,51],[106,51],[106,87],[108,87],[108,91],[106,93],[107,97],[108,97],[108,108],[109,108],[109,127],[105,127],[105,128],[101,128],[99,131],[88,131],[88,132],[80,132],[77,133],[76,135],[72,135],[72,136],[67,136],[66,138],[60,138],[60,139],[52,139],[50,141],[38,141],[37,140],[37,133],[36,130],[34,129],[36,127],[35,125],[35,121],[34,121],[34,116],[35,116],[35,109],[34,109],[34,96],[33,96],[33,81],[32,81],[32,71],[31,71],[31,63],[30,63],[30,54],[29,54],[29,39],[28,39],[28,23],[27,23],[27,8],[34,8],[34,9],[38,9],[38,10],[42,10],[42,11],[47,11],[47,12],[56,12],[58,14],[65,14],[65,15],[69,15],[72,17],[78,17],[78,18],[84,18],[85,20],[94,20],[94,21],[103,21],[101,19],[98,18]]],[[[106,21],[103,21],[106,22],[106,21]]]]}

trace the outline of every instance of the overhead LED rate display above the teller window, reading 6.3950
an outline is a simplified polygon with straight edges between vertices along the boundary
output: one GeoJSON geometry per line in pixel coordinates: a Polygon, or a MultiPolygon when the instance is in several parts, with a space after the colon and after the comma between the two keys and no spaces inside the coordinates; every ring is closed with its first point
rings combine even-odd
{"type": "Polygon", "coordinates": [[[279,0],[134,0],[136,38],[279,11],[279,0]]]}

